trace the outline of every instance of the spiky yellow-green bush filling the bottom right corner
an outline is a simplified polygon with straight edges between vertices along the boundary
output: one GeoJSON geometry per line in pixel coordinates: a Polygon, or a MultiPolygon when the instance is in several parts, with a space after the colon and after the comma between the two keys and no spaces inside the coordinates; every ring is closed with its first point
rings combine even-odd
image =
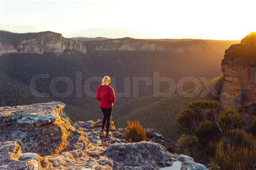
{"type": "Polygon", "coordinates": [[[220,140],[215,158],[221,169],[253,169],[256,162],[256,138],[242,130],[234,131],[234,144],[220,140]]]}

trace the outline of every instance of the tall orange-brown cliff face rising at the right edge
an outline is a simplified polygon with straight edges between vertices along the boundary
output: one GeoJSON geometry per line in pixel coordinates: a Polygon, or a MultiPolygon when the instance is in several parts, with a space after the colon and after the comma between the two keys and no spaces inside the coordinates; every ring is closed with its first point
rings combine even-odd
{"type": "Polygon", "coordinates": [[[256,101],[256,33],[232,45],[221,62],[224,82],[220,101],[226,108],[239,109],[256,101]]]}

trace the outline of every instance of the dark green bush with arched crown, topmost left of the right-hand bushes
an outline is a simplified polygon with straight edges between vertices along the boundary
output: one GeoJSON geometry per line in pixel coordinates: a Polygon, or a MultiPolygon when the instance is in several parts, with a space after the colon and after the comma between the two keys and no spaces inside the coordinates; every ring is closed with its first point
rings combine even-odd
{"type": "Polygon", "coordinates": [[[220,103],[216,101],[201,100],[188,104],[178,117],[181,132],[194,134],[201,121],[214,120],[221,109],[220,103]]]}

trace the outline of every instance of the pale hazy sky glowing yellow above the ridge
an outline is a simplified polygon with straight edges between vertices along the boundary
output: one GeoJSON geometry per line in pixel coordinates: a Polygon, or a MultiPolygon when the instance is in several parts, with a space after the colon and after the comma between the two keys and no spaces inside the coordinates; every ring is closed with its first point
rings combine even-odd
{"type": "Polygon", "coordinates": [[[256,0],[1,1],[1,30],[64,37],[241,39],[256,0]]]}

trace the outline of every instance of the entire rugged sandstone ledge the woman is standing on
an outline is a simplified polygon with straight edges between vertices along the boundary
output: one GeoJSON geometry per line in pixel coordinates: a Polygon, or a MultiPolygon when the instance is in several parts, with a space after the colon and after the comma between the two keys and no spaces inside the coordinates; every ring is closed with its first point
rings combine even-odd
{"type": "Polygon", "coordinates": [[[0,168],[174,169],[180,162],[178,169],[206,169],[167,151],[156,130],[145,129],[149,141],[127,143],[125,129],[112,122],[111,136],[100,137],[100,120],[72,125],[64,107],[50,102],[0,108],[0,168]]]}

